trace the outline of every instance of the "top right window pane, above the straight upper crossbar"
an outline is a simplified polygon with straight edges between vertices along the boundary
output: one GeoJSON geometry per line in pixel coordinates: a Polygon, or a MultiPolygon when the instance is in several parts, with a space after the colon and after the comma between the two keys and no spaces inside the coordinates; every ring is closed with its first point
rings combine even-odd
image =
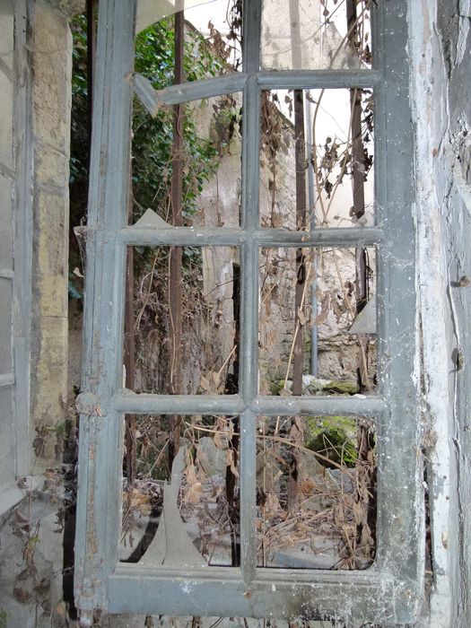
{"type": "Polygon", "coordinates": [[[372,0],[265,0],[266,70],[371,67],[372,0]]]}

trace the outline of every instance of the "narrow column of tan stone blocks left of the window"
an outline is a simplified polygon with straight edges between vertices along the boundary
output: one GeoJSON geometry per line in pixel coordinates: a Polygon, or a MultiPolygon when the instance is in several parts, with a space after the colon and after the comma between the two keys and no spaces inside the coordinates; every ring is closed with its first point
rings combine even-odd
{"type": "Polygon", "coordinates": [[[47,3],[33,13],[35,269],[31,415],[43,466],[56,459],[50,430],[65,419],[67,394],[68,184],[72,37],[68,17],[47,3]],[[46,437],[47,436],[47,437],[46,437]]]}

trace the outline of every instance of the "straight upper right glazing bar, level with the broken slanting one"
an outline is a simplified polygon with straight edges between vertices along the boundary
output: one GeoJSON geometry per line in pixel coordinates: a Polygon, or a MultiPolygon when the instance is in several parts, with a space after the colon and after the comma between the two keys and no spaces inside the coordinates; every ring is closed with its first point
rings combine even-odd
{"type": "Polygon", "coordinates": [[[377,70],[284,70],[257,73],[258,87],[262,90],[342,89],[373,87],[382,80],[377,70]]]}

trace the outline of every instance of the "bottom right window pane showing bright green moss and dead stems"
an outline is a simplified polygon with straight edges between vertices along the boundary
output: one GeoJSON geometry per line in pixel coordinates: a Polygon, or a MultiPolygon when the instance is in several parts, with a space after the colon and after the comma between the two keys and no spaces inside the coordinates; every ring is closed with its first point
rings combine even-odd
{"type": "Polygon", "coordinates": [[[376,433],[352,416],[262,416],[257,564],[366,569],[375,555],[376,433]]]}

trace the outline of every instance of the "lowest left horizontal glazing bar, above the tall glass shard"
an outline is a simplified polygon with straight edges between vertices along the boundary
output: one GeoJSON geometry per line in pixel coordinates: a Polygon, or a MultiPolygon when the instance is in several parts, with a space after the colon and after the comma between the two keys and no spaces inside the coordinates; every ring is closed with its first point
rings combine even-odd
{"type": "Polygon", "coordinates": [[[113,398],[111,407],[116,412],[135,414],[240,414],[247,405],[239,396],[232,395],[136,395],[131,391],[113,398]]]}

